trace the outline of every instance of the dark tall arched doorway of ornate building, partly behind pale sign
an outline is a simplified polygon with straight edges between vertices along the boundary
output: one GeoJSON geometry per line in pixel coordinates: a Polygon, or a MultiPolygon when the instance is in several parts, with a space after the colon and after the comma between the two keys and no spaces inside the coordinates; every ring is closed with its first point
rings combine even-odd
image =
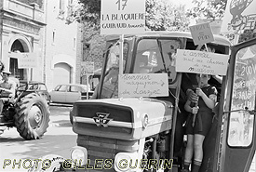
{"type": "MultiPolygon", "coordinates": [[[[19,39],[15,40],[11,46],[11,52],[28,52],[28,49],[26,46],[23,46],[23,44],[20,42],[19,39]]],[[[27,72],[23,69],[18,69],[18,59],[16,58],[10,58],[9,60],[9,70],[11,74],[18,78],[19,80],[27,80],[27,72]]]]}

